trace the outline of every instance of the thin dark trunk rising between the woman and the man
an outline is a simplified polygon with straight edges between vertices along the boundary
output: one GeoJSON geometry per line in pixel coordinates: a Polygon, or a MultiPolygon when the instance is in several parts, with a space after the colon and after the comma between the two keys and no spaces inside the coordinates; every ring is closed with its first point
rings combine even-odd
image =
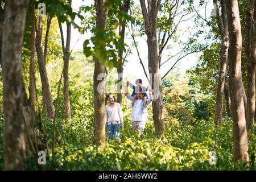
{"type": "MultiPolygon", "coordinates": [[[[123,5],[120,9],[120,11],[123,11],[125,13],[128,13],[130,7],[130,0],[124,0],[123,5]]],[[[124,44],[125,40],[125,22],[126,20],[119,19],[119,36],[121,38],[119,39],[119,42],[121,44],[124,44]]],[[[120,57],[118,68],[117,68],[117,73],[118,73],[118,85],[117,85],[117,102],[119,102],[120,105],[122,105],[122,81],[123,81],[123,50],[118,49],[118,57],[120,57]]]]}

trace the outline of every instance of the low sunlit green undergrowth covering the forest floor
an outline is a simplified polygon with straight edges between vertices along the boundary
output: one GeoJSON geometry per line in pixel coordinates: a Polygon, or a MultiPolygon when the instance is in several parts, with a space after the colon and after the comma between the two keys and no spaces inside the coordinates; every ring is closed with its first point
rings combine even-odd
{"type": "MultiPolygon", "coordinates": [[[[75,122],[75,124],[77,123],[75,122]]],[[[80,126],[80,125],[78,125],[80,126]]],[[[92,133],[74,127],[76,136],[82,138],[92,133]]],[[[125,122],[121,143],[107,139],[105,147],[93,146],[89,140],[83,144],[66,142],[56,148],[55,161],[47,160],[47,169],[55,170],[234,170],[256,169],[251,164],[233,163],[232,122],[225,121],[219,129],[213,120],[200,121],[191,125],[167,127],[166,137],[154,137],[152,121],[146,125],[143,137],[135,137],[131,123],[125,122]],[[88,142],[88,143],[87,143],[88,142]],[[210,152],[216,152],[217,163],[210,164],[210,152]]],[[[67,127],[68,129],[68,127],[67,127]]],[[[68,129],[68,131],[71,129],[68,129]]],[[[71,135],[71,133],[63,133],[71,135]]],[[[72,136],[72,135],[71,135],[72,136]]],[[[90,138],[90,137],[89,137],[90,138]]],[[[250,142],[250,156],[255,156],[255,137],[250,142]]],[[[70,139],[69,139],[70,141],[70,139]]],[[[81,142],[81,141],[80,141],[81,142]]]]}

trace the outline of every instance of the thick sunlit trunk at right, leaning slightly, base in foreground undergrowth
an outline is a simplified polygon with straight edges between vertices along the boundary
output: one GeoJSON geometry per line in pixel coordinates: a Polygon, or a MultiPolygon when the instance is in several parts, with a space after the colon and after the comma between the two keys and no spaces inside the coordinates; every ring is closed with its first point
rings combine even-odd
{"type": "Polygon", "coordinates": [[[233,120],[234,160],[247,162],[248,142],[241,73],[242,34],[237,0],[226,2],[229,28],[230,97],[233,120]]]}

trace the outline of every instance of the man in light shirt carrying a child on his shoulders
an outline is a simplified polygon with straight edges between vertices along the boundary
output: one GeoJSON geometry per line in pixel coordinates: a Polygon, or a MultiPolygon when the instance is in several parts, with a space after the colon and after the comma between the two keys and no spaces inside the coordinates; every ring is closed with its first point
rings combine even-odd
{"type": "MultiPolygon", "coordinates": [[[[133,97],[127,93],[129,83],[126,83],[125,96],[133,101],[133,97]]],[[[149,92],[149,98],[147,100],[143,100],[144,93],[142,93],[141,86],[139,87],[138,93],[136,93],[136,100],[134,101],[133,110],[131,111],[131,119],[133,121],[133,131],[139,130],[140,134],[143,134],[144,128],[146,126],[147,118],[147,105],[149,105],[152,100],[152,91],[150,86],[147,86],[147,90],[149,92]]]]}

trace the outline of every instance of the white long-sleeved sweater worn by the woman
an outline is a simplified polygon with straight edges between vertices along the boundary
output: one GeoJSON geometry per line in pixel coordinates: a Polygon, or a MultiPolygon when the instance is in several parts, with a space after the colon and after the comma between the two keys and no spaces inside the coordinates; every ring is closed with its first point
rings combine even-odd
{"type": "Polygon", "coordinates": [[[108,125],[116,125],[118,122],[123,125],[123,112],[121,105],[118,102],[115,102],[114,107],[110,107],[109,105],[105,105],[105,124],[108,122],[108,125]]]}

